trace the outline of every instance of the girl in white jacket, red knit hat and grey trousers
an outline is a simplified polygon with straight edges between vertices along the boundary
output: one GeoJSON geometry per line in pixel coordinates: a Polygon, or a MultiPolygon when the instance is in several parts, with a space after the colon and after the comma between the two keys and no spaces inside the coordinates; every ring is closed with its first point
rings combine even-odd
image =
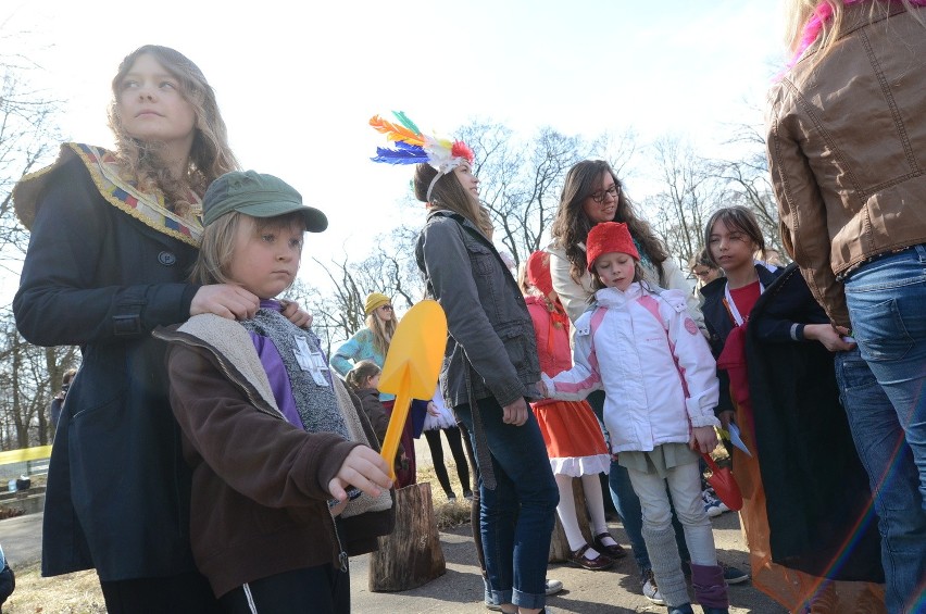
{"type": "Polygon", "coordinates": [[[641,283],[640,256],[626,224],[588,235],[596,309],[575,326],[572,369],[543,375],[548,394],[584,399],[604,389],[611,451],[627,467],[643,512],[643,539],[671,614],[692,613],[671,524],[666,484],[691,552],[691,579],[705,613],[728,607],[711,523],[701,500],[698,452],[717,446],[716,365],[677,290],[641,283]]]}

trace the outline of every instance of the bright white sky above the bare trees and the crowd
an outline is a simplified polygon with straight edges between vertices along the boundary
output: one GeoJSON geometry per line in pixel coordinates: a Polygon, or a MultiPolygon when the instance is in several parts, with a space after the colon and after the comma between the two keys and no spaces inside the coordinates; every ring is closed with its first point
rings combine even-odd
{"type": "MultiPolygon", "coordinates": [[[[446,136],[476,117],[524,137],[634,129],[642,147],[671,133],[715,152],[728,124],[762,122],[780,30],[780,1],[3,0],[0,57],[38,65],[29,80],[64,101],[66,138],[110,146],[120,61],[176,48],[215,88],[242,165],[328,214],[306,251],[327,260],[424,220],[399,204],[410,170],[368,160],[373,114],[403,110],[446,136]]],[[[629,185],[647,196],[645,177],[629,185]]]]}

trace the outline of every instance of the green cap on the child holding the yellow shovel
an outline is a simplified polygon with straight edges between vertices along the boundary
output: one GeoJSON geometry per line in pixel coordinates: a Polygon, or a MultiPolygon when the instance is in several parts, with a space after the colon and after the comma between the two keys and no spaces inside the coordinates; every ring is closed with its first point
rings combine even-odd
{"type": "Polygon", "coordinates": [[[202,199],[203,226],[233,211],[251,217],[276,217],[299,211],[310,233],[321,233],[328,227],[325,214],[302,204],[302,195],[292,186],[278,177],[254,171],[225,173],[205,190],[202,199]]]}

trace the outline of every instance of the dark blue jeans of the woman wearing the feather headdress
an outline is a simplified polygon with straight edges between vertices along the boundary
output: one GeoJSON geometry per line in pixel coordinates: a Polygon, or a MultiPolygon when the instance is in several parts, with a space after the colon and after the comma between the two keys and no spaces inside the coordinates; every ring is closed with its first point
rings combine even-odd
{"type": "MultiPolygon", "coordinates": [[[[502,422],[495,399],[479,399],[479,416],[491,455],[496,489],[479,471],[479,525],[492,602],[543,607],[547,561],[560,491],[534,412],[523,426],[502,422]]],[[[468,404],[454,408],[466,426],[478,460],[478,443],[468,404]]],[[[484,443],[484,444],[485,444],[484,443]]]]}

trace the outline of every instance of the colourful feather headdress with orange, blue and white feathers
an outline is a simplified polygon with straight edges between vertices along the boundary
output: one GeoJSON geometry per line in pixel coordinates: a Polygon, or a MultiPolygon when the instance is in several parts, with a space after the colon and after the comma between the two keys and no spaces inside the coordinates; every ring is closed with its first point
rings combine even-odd
{"type": "Polygon", "coordinates": [[[427,200],[430,200],[430,190],[437,179],[453,171],[461,162],[473,164],[473,150],[462,140],[451,141],[423,135],[403,112],[392,111],[392,115],[398,123],[384,120],[379,115],[370,118],[370,125],[395,143],[392,148],[377,147],[376,156],[371,160],[386,164],[430,164],[438,174],[428,186],[427,200]]]}

